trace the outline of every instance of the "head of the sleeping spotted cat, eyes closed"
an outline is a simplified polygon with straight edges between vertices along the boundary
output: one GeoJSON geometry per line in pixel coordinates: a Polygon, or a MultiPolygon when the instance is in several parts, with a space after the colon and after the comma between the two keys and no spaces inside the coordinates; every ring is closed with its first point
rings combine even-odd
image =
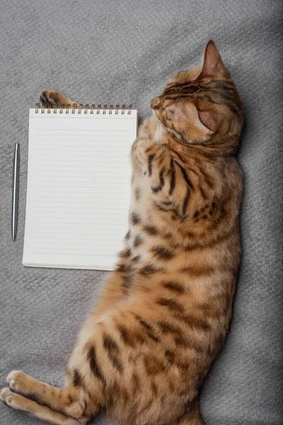
{"type": "Polygon", "coordinates": [[[151,108],[183,143],[212,145],[241,132],[242,103],[213,41],[207,43],[202,66],[173,75],[151,108]]]}

